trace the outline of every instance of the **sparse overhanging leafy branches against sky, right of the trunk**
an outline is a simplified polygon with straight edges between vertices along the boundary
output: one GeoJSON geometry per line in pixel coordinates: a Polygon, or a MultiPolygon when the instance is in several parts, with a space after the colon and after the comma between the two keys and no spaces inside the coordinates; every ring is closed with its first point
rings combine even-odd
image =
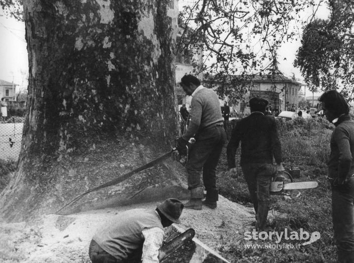
{"type": "Polygon", "coordinates": [[[203,65],[196,73],[203,72],[211,85],[217,81],[220,97],[241,99],[253,74],[267,74],[270,78],[279,74],[277,50],[297,37],[303,11],[316,10],[315,2],[187,1],[180,14],[180,22],[194,29],[187,46],[200,45],[204,49],[203,65]]]}

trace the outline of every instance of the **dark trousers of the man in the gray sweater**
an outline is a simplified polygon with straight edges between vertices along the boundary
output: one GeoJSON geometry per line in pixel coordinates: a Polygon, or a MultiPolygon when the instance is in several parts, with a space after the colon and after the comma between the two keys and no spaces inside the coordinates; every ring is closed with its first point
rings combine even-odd
{"type": "Polygon", "coordinates": [[[225,130],[222,125],[212,125],[200,131],[195,140],[186,166],[188,189],[202,187],[200,180],[202,170],[205,190],[215,189],[216,166],[226,141],[225,130]]]}

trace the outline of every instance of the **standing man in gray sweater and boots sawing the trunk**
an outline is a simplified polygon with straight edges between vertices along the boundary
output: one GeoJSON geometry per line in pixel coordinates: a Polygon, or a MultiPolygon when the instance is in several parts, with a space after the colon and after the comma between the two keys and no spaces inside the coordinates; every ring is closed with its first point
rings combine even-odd
{"type": "Polygon", "coordinates": [[[202,173],[206,190],[206,199],[203,204],[216,208],[218,200],[216,166],[226,140],[219,98],[213,90],[201,85],[200,80],[193,75],[184,75],[180,85],[184,92],[193,98],[192,118],[186,132],[177,140],[177,149],[183,151],[192,137],[196,140],[190,149],[186,164],[188,189],[191,195],[184,207],[202,209],[203,185],[200,180],[202,173]]]}

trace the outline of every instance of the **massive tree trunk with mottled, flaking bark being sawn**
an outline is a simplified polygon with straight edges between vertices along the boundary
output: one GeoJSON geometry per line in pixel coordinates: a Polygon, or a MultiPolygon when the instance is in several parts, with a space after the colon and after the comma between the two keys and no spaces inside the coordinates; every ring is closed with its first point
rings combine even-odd
{"type": "MultiPolygon", "coordinates": [[[[174,0],[23,2],[29,96],[18,171],[1,195],[8,220],[55,212],[170,150],[178,135],[174,0]]],[[[173,188],[173,170],[160,165],[73,211],[173,188]]]]}

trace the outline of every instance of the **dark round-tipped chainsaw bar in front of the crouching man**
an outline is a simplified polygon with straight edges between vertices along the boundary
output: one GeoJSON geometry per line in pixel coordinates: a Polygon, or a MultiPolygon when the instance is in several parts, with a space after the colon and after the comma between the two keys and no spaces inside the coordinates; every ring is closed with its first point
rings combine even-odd
{"type": "MultiPolygon", "coordinates": [[[[167,259],[168,256],[177,251],[180,247],[187,244],[195,235],[193,228],[189,228],[187,231],[178,235],[165,245],[163,245],[159,250],[159,261],[164,262],[164,259],[167,259]]],[[[166,261],[167,262],[167,261],[166,261]]]]}

